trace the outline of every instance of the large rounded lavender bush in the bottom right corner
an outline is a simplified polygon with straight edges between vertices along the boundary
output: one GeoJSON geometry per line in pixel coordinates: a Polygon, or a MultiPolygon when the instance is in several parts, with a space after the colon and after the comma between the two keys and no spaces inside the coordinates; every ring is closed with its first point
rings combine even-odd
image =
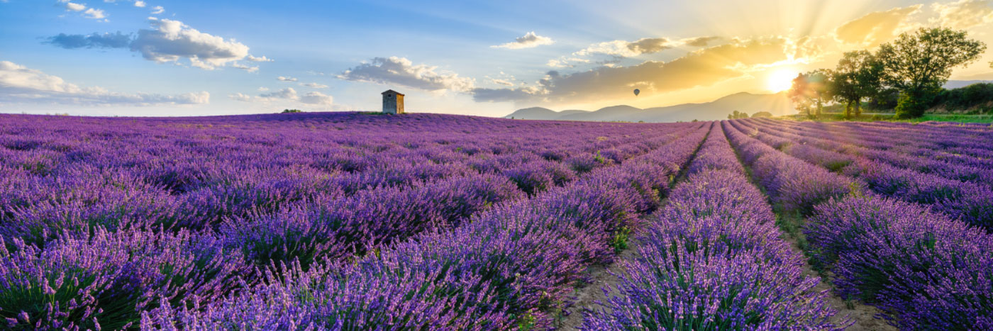
{"type": "Polygon", "coordinates": [[[993,237],[882,197],[817,207],[806,230],[838,291],[876,304],[906,330],[993,328],[993,237]]]}

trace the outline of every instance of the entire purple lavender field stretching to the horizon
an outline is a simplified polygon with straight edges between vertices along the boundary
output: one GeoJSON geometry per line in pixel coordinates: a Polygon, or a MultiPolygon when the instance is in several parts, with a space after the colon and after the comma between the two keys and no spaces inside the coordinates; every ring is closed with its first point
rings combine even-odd
{"type": "Polygon", "coordinates": [[[991,229],[988,125],[0,115],[12,330],[990,330],[991,229]]]}

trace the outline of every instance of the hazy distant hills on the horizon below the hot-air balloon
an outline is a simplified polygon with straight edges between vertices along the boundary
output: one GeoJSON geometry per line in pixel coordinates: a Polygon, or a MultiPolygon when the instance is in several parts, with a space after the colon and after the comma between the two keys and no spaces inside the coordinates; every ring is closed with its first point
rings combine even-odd
{"type": "Polygon", "coordinates": [[[676,122],[711,121],[727,119],[732,111],[754,114],[768,111],[775,116],[794,113],[792,103],[785,93],[752,94],[735,93],[704,103],[685,103],[667,107],[640,109],[628,105],[611,106],[596,111],[566,110],[556,112],[548,108],[532,107],[517,110],[505,118],[527,120],[567,121],[630,121],[676,122]]]}

